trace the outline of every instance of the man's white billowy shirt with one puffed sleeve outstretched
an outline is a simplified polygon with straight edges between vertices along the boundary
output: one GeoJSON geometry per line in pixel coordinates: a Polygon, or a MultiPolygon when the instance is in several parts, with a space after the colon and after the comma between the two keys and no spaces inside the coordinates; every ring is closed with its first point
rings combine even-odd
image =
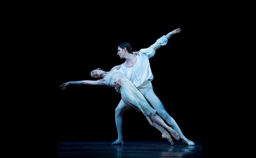
{"type": "MultiPolygon", "coordinates": [[[[169,36],[170,38],[170,36],[169,36]]],[[[168,39],[169,39],[168,38],[168,39]]],[[[164,46],[168,42],[167,37],[164,35],[161,38],[157,39],[156,42],[146,49],[140,49],[140,56],[137,55],[137,61],[131,68],[126,68],[122,64],[119,70],[130,80],[132,83],[139,87],[145,81],[153,80],[153,74],[149,65],[149,58],[153,57],[156,53],[156,49],[161,46],[164,46]]]]}

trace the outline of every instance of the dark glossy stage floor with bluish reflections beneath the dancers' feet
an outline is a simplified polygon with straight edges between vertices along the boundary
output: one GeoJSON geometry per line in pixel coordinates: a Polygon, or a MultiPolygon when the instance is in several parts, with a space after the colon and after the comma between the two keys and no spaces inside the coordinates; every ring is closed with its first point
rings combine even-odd
{"type": "Polygon", "coordinates": [[[203,157],[202,143],[188,146],[181,141],[174,146],[166,141],[125,141],[124,145],[111,145],[112,141],[60,141],[58,157],[203,157]]]}

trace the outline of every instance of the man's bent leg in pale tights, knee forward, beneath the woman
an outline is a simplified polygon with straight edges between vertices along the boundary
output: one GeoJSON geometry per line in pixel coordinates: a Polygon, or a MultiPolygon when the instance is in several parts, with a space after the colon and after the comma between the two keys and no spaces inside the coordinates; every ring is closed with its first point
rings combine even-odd
{"type": "Polygon", "coordinates": [[[116,129],[118,134],[118,139],[112,143],[112,145],[123,144],[123,112],[129,109],[131,106],[124,103],[121,99],[116,107],[116,129]]]}

